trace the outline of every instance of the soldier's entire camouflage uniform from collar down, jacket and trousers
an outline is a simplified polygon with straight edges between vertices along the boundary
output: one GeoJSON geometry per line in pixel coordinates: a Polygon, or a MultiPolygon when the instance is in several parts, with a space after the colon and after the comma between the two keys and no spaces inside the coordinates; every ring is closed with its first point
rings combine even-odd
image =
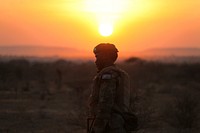
{"type": "Polygon", "coordinates": [[[101,70],[94,78],[89,106],[95,118],[95,133],[126,133],[120,113],[127,112],[130,102],[129,77],[116,66],[101,70]]]}

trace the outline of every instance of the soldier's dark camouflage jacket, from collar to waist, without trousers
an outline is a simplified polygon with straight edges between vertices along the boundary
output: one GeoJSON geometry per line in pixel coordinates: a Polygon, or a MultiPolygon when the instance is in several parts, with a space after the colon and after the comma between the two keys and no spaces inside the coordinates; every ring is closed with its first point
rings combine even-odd
{"type": "Polygon", "coordinates": [[[94,78],[89,99],[90,116],[110,119],[114,111],[127,112],[130,104],[128,74],[116,66],[101,70],[94,78]]]}

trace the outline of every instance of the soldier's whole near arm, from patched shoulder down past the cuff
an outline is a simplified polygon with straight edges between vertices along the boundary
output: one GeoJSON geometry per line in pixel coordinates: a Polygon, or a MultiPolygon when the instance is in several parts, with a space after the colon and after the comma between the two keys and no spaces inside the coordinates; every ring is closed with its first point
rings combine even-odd
{"type": "Polygon", "coordinates": [[[94,132],[104,133],[114,105],[117,80],[111,74],[102,75],[94,132]]]}

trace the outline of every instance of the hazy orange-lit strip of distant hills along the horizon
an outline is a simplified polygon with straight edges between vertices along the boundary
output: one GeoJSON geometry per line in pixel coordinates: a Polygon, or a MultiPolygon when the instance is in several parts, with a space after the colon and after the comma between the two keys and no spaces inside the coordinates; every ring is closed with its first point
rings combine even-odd
{"type": "MultiPolygon", "coordinates": [[[[120,51],[120,50],[119,50],[120,51]]],[[[81,51],[80,49],[74,49],[69,47],[60,46],[35,46],[35,45],[15,45],[15,46],[0,46],[0,56],[5,57],[33,57],[33,58],[65,58],[71,60],[93,60],[94,55],[91,51],[81,51]]],[[[182,56],[192,57],[200,56],[199,47],[187,47],[187,48],[150,48],[142,51],[119,52],[119,59],[127,59],[131,57],[139,58],[154,58],[154,57],[170,57],[170,56],[182,56]]]]}

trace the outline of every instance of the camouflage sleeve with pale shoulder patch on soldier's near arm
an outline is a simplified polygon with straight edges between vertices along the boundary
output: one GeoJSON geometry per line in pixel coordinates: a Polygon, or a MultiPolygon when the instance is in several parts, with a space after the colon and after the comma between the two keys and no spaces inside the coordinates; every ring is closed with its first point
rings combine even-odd
{"type": "Polygon", "coordinates": [[[97,119],[109,119],[114,105],[117,80],[112,74],[103,74],[101,77],[97,119]]]}

